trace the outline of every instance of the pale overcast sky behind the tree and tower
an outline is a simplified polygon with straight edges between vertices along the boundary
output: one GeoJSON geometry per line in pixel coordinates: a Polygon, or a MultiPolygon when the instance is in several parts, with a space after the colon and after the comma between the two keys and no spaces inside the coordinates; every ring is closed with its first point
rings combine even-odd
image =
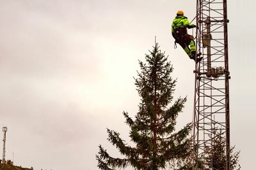
{"type": "MultiPolygon", "coordinates": [[[[255,6],[254,0],[228,1],[230,135],[242,169],[255,167],[255,6]]],[[[178,78],[175,97],[188,96],[177,129],[190,122],[195,65],[173,48],[177,10],[192,20],[196,0],[1,1],[6,158],[36,170],[93,170],[99,144],[116,155],[106,128],[129,141],[122,111],[131,117],[138,111],[133,77],[155,36],[178,78]]]]}

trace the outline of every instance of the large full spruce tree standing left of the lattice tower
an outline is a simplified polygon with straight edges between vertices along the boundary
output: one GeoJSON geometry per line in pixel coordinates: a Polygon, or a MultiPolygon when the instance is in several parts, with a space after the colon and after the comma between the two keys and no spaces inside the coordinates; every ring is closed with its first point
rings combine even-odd
{"type": "Polygon", "coordinates": [[[120,134],[108,131],[108,140],[118,148],[124,158],[111,157],[99,145],[96,155],[100,169],[165,169],[172,164],[179,166],[188,157],[191,124],[175,131],[176,119],[186,102],[186,97],[173,101],[176,79],[171,77],[172,64],[168,56],[159,50],[157,43],[145,55],[146,63],[139,61],[141,72],[135,78],[135,85],[141,97],[139,111],[134,120],[124,112],[125,123],[131,128],[129,137],[135,144],[127,145],[120,134]]]}

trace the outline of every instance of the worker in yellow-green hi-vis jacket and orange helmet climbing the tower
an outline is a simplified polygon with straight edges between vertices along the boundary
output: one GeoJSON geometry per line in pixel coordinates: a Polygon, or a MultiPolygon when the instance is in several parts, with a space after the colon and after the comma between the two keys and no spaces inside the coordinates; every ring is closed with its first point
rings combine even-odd
{"type": "Polygon", "coordinates": [[[201,53],[196,54],[194,37],[189,35],[187,31],[187,28],[191,29],[195,27],[196,25],[189,23],[183,11],[178,11],[177,16],[172,22],[172,36],[175,39],[175,44],[179,43],[190,59],[200,62],[203,57],[199,57],[201,53]],[[196,59],[196,57],[198,58],[196,59]]]}

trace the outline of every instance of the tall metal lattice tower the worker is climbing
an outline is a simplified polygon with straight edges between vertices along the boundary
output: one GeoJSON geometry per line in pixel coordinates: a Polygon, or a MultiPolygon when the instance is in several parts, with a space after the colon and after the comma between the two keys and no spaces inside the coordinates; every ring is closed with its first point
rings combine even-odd
{"type": "Polygon", "coordinates": [[[215,132],[225,141],[226,170],[230,170],[230,124],[228,80],[227,0],[197,0],[196,50],[204,57],[195,67],[193,115],[193,169],[203,169],[215,132]]]}

